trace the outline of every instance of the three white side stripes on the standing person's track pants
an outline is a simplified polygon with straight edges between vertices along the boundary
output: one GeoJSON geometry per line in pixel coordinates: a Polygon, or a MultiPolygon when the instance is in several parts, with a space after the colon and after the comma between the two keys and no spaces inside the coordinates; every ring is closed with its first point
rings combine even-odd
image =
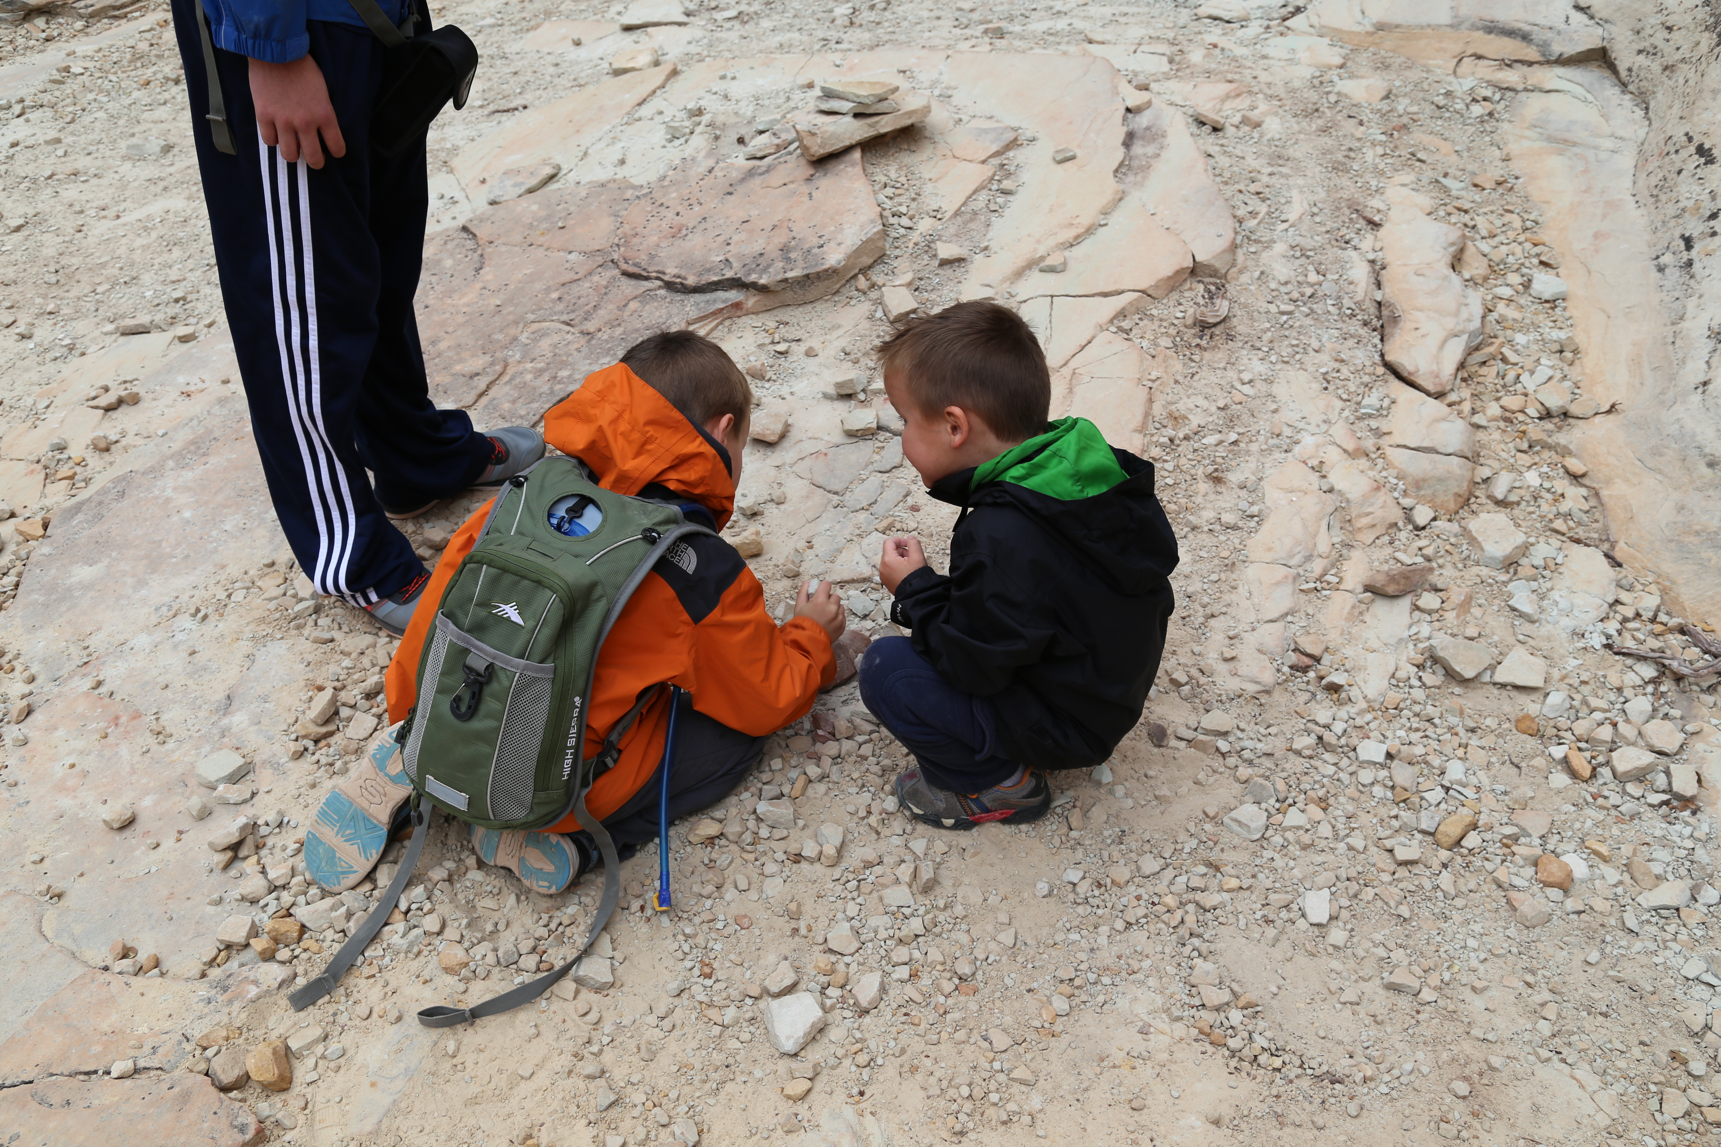
{"type": "Polygon", "coordinates": [[[263,175],[263,205],[268,218],[268,270],[275,303],[275,347],[286,387],[293,437],[305,464],[305,488],[317,518],[317,564],[312,585],[355,605],[379,600],[368,586],[355,592],[346,583],[353,557],[358,509],[329,440],[322,416],[322,353],[317,342],[317,273],[312,256],[310,181],[305,160],[287,162],[262,139],[256,143],[263,175]],[[298,193],[298,212],[293,210],[298,193]],[[303,299],[299,284],[305,285],[303,299]]]}

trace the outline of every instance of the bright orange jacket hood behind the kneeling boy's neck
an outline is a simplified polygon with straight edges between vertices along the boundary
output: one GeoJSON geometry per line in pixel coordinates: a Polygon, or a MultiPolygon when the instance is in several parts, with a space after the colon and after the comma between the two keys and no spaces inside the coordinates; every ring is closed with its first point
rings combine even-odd
{"type": "Polygon", "coordinates": [[[606,490],[666,487],[709,509],[718,530],[735,511],[730,452],[621,363],[549,408],[544,440],[590,466],[606,490]]]}

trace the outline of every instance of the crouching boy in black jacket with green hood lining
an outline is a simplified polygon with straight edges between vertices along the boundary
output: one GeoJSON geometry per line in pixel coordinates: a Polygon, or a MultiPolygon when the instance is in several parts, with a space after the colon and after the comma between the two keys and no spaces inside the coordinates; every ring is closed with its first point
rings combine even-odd
{"type": "Polygon", "coordinates": [[[914,817],[1036,820],[1039,770],[1110,757],[1158,672],[1177,538],[1153,466],[1084,418],[1046,421],[1039,342],[995,303],[916,322],[879,361],[904,456],[962,516],[948,576],[917,538],[885,542],[890,616],[914,636],[873,643],[860,696],[919,764],[897,777],[914,817]]]}

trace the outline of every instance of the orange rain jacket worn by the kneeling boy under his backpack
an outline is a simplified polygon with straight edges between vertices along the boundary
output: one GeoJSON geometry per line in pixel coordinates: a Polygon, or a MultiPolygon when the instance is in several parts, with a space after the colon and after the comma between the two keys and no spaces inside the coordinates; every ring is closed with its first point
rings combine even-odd
{"type": "MultiPolygon", "coordinates": [[[[597,483],[633,495],[659,487],[654,497],[697,502],[718,530],[735,507],[728,451],[695,426],[620,363],[585,383],[544,416],[544,439],[582,459],[597,483]],[[668,490],[668,494],[664,494],[668,490]]],[[[430,574],[423,605],[389,662],[389,721],[404,721],[418,693],[418,660],[434,609],[461,559],[484,526],[490,504],[468,518],[430,574]]],[[[783,626],[764,609],[764,588],[735,547],[723,538],[690,535],[697,557],[688,574],[659,564],[621,610],[597,655],[585,757],[595,757],[604,734],[657,683],[678,684],[694,708],[749,736],[776,733],[812,708],[819,688],[836,676],[831,640],[817,623],[790,617],[783,626]]],[[[585,805],[602,820],[628,801],[657,770],[668,727],[668,691],[659,695],[621,739],[621,757],[601,776],[585,805]]],[[[571,832],[573,817],[551,825],[571,832]]]]}

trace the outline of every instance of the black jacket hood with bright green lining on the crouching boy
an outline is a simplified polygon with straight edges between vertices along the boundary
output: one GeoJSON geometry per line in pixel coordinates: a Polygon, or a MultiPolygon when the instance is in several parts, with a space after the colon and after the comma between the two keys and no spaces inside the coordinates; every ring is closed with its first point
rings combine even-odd
{"type": "Polygon", "coordinates": [[[1050,423],[1046,433],[940,478],[929,494],[960,506],[964,518],[1015,507],[1119,593],[1158,592],[1177,569],[1177,537],[1153,494],[1153,463],[1107,445],[1086,418],[1050,423]]]}

